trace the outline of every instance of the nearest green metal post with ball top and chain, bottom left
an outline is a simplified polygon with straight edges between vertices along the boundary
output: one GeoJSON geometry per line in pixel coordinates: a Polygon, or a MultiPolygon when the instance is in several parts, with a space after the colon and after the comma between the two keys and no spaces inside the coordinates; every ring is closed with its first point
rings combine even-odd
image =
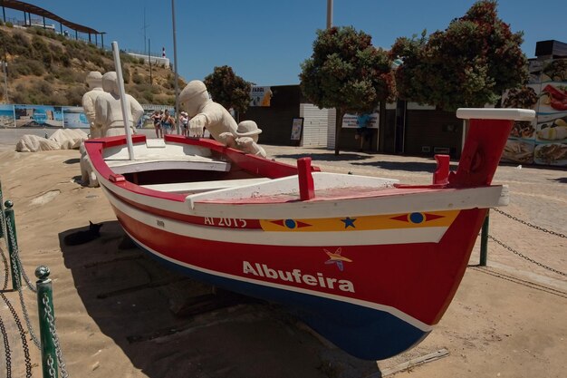
{"type": "Polygon", "coordinates": [[[48,267],[37,267],[37,311],[39,312],[39,332],[42,342],[43,377],[57,378],[57,351],[53,341],[55,314],[53,312],[52,280],[48,267]],[[53,325],[53,326],[52,326],[53,325]]]}

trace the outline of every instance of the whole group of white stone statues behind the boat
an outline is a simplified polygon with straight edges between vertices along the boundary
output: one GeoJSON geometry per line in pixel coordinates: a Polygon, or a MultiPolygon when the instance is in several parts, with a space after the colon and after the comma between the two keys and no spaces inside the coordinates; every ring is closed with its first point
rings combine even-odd
{"type": "MultiPolygon", "coordinates": [[[[125,134],[117,74],[91,72],[87,75],[86,82],[91,90],[82,96],[82,107],[89,121],[90,138],[125,134]]],[[[130,94],[126,96],[130,104],[126,122],[132,133],[136,133],[136,125],[144,110],[134,97],[130,94]]],[[[222,105],[210,99],[204,82],[194,80],[187,84],[179,94],[179,108],[180,111],[187,111],[190,118],[189,137],[203,137],[207,129],[216,141],[225,146],[265,158],[265,150],[257,144],[262,130],[258,129],[255,121],[236,123],[222,105]]],[[[89,187],[99,186],[83,146],[81,177],[82,182],[89,187]]]]}

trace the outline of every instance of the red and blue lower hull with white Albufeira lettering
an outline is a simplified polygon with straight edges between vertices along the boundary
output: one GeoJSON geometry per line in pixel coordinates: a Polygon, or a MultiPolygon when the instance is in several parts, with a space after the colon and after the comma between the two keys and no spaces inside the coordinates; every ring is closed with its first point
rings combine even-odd
{"type": "MultiPolygon", "coordinates": [[[[485,217],[485,210],[477,208],[450,212],[450,225],[436,242],[380,244],[376,237],[371,245],[302,246],[302,235],[289,232],[288,245],[280,246],[269,244],[268,237],[263,243],[257,233],[264,230],[252,234],[250,229],[156,218],[149,208],[136,208],[131,199],[104,190],[122,228],[153,257],[197,280],[280,303],[341,349],[374,360],[411,348],[437,324],[464,275],[485,217]],[[230,237],[222,237],[228,231],[255,237],[248,243],[229,242],[230,237]]],[[[258,219],[247,222],[253,220],[258,219]]],[[[389,232],[403,240],[411,231],[404,226],[389,232]]],[[[330,231],[329,238],[336,232],[330,231]]]]}

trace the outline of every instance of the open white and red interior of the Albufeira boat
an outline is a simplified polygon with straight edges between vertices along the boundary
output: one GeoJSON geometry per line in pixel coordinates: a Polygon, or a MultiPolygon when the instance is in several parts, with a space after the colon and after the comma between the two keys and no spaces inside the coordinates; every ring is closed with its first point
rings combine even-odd
{"type": "MultiPolygon", "coordinates": [[[[272,195],[299,190],[297,167],[260,160],[232,149],[218,151],[185,143],[145,140],[135,142],[132,150],[134,160],[130,160],[126,145],[104,149],[103,157],[114,173],[146,189],[185,195],[233,189],[233,194],[234,190],[242,191],[246,197],[253,195],[258,185],[262,186],[264,194],[272,195]],[[236,153],[221,153],[227,150],[236,153]]],[[[318,190],[353,186],[379,189],[398,182],[395,179],[322,173],[311,165],[307,170],[312,171],[314,188],[318,190]]]]}

